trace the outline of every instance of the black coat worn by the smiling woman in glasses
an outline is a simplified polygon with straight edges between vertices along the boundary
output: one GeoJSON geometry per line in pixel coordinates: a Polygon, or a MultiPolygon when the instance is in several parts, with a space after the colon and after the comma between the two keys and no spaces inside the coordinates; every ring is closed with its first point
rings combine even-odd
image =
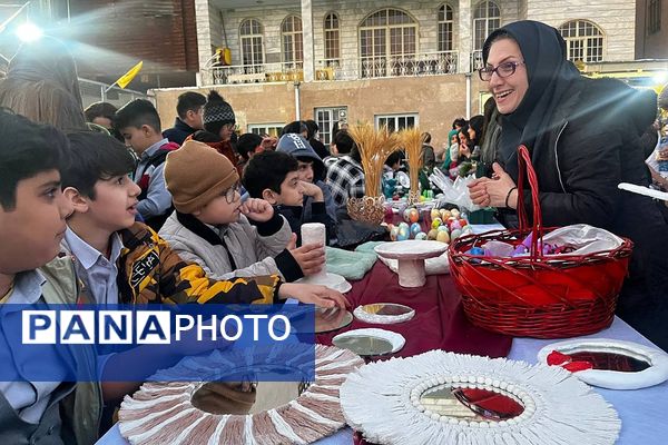
{"type": "MultiPolygon", "coordinates": [[[[548,144],[536,147],[531,160],[544,227],[584,222],[633,241],[618,314],[666,348],[668,225],[660,204],[617,188],[650,184],[640,137],[654,119],[648,110],[655,109],[651,97],[621,82],[581,79],[553,113],[548,144]]],[[[531,218],[528,185],[523,198],[531,218]]],[[[517,226],[514,211],[501,219],[517,226]]]]}

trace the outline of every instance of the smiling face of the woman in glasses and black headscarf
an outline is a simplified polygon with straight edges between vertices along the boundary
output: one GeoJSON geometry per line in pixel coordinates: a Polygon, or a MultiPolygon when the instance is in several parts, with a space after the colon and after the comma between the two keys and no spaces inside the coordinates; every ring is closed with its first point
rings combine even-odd
{"type": "Polygon", "coordinates": [[[517,110],[529,89],[529,77],[524,58],[518,43],[512,39],[501,39],[492,43],[488,56],[488,67],[497,68],[503,62],[521,62],[515,66],[515,71],[508,77],[500,77],[493,72],[488,82],[489,91],[494,96],[494,101],[502,115],[509,115],[517,110]]]}

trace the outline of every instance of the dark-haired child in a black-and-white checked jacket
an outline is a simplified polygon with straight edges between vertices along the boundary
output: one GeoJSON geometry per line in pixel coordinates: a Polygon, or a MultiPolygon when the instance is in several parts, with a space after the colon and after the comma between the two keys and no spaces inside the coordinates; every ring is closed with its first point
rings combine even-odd
{"type": "Polygon", "coordinates": [[[340,207],[345,207],[348,198],[364,197],[364,170],[362,157],[353,138],[347,131],[338,131],[334,138],[340,157],[327,159],[325,182],[332,190],[332,197],[340,207]]]}

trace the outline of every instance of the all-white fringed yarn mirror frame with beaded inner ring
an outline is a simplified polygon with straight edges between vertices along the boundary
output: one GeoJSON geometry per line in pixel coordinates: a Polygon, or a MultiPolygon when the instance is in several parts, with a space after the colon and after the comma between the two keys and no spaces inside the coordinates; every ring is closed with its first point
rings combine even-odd
{"type": "Polygon", "coordinates": [[[340,394],[348,425],[384,445],[605,445],[621,428],[617,412],[562,368],[443,350],[363,366],[340,394]],[[428,388],[449,383],[499,388],[521,400],[524,412],[502,422],[471,422],[421,405],[428,388]]]}

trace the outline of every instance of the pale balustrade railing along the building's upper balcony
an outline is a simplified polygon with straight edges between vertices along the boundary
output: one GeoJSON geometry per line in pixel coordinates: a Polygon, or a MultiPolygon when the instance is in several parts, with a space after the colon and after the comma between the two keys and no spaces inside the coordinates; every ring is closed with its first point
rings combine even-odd
{"type": "MultiPolygon", "coordinates": [[[[263,63],[210,68],[214,83],[259,83],[304,80],[302,62],[263,63]]],[[[425,52],[410,56],[321,59],[315,63],[314,80],[357,80],[369,78],[454,75],[459,72],[458,51],[425,52]]]]}

